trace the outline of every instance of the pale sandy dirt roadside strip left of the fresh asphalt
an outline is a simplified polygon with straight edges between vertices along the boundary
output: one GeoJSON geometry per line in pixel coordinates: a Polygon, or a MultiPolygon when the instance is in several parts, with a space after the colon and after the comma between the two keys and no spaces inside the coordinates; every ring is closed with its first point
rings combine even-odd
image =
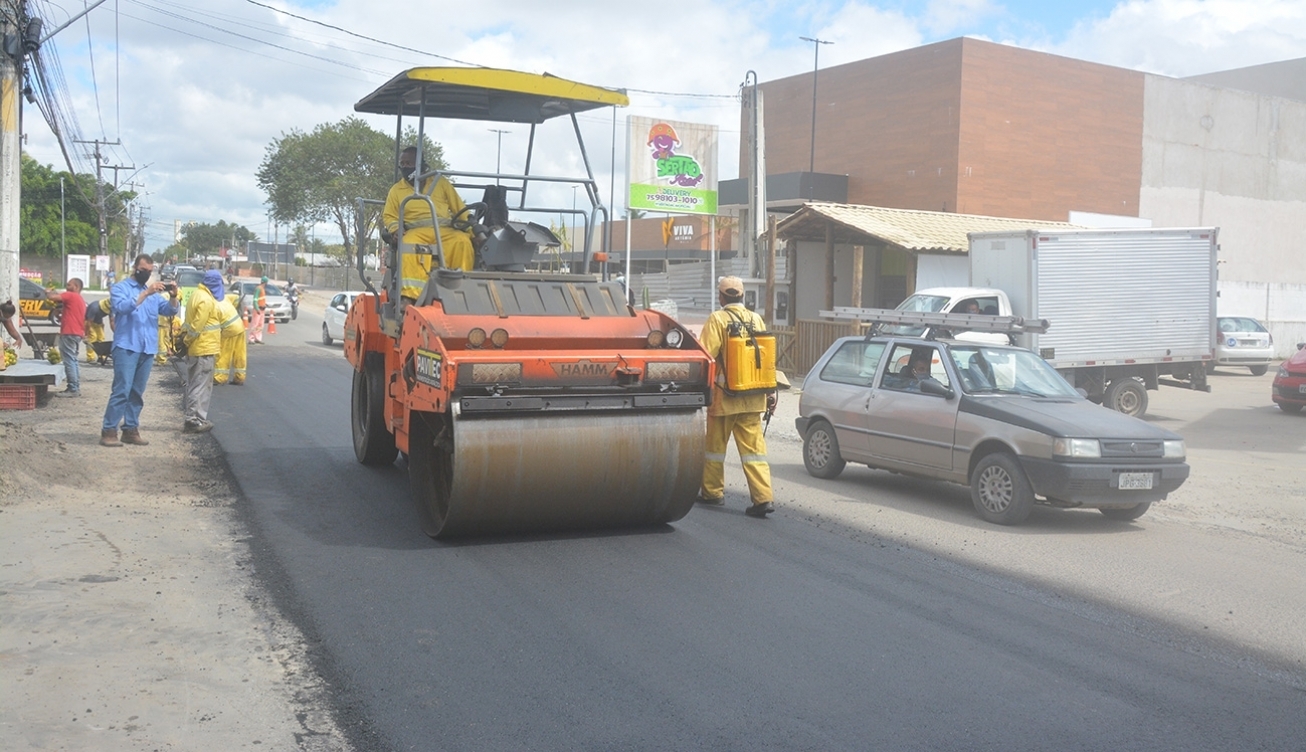
{"type": "Polygon", "coordinates": [[[0,411],[0,745],[350,749],[176,373],[145,393],[150,444],[120,448],[98,444],[112,369],[81,375],[81,398],[0,411]]]}

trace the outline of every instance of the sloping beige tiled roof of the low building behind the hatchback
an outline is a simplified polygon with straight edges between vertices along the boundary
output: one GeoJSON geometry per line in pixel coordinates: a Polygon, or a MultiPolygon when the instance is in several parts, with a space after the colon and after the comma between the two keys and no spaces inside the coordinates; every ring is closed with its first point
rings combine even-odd
{"type": "Polygon", "coordinates": [[[781,238],[824,240],[827,223],[835,231],[836,243],[855,245],[879,240],[905,251],[935,253],[965,253],[970,245],[966,232],[1079,227],[1046,219],[1008,219],[814,201],[781,221],[777,232],[781,238]]]}

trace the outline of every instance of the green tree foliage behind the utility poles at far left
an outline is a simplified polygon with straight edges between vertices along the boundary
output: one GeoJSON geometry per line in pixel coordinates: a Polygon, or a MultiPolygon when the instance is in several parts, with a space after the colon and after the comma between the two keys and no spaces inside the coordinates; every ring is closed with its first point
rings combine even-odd
{"type": "MultiPolygon", "coordinates": [[[[22,155],[22,200],[18,209],[18,243],[24,253],[59,256],[60,238],[69,253],[99,253],[99,213],[94,205],[95,176],[55,172],[54,167],[22,155]],[[60,227],[59,179],[64,179],[63,226],[60,227]]],[[[136,197],[104,187],[106,228],[110,253],[123,253],[131,228],[127,202],[136,197]]]]}

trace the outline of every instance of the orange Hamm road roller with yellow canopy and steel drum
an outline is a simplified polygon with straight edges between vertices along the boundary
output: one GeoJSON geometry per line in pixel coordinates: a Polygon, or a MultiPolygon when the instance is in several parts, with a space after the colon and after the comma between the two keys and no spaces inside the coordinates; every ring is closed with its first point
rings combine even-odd
{"type": "MultiPolygon", "coordinates": [[[[355,104],[393,115],[397,134],[406,124],[411,133],[415,119],[418,166],[427,119],[530,132],[520,175],[417,167],[414,185],[445,178],[479,200],[441,217],[430,196],[405,196],[427,205],[441,231],[424,245],[405,242],[404,223],[415,214],[401,208],[398,230],[380,244],[379,281],[364,265],[377,244],[362,230],[358,238],[367,292],[350,307],[343,337],[354,367],[354,452],[374,466],[404,456],[432,538],[665,525],[693,507],[714,364],[674,319],[629,306],[622,283],[607,278],[598,227],[610,217],[576,120],[627,103],[622,91],[554,76],[414,68],[355,104]],[[532,174],[537,131],[568,120],[585,174],[532,174]],[[550,205],[577,193],[588,206],[550,205]],[[569,268],[559,261],[559,232],[532,215],[582,223],[569,268]],[[473,238],[471,269],[445,264],[445,227],[473,238]],[[430,262],[415,296],[402,273],[407,255],[430,262]]],[[[401,148],[397,140],[396,164],[401,148]]],[[[380,205],[358,200],[360,228],[377,225],[367,219],[380,205]]]]}

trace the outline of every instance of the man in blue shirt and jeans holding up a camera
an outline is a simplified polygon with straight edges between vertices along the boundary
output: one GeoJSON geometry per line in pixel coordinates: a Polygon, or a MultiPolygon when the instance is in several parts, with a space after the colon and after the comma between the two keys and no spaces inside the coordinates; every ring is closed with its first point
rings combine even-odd
{"type": "Polygon", "coordinates": [[[114,388],[104,409],[104,424],[99,432],[103,446],[123,444],[149,444],[141,437],[141,407],[145,405],[145,386],[154,368],[154,354],[159,351],[159,316],[176,316],[176,283],[150,282],[154,260],[148,255],[136,257],[132,274],[114,285],[108,292],[110,313],[114,316],[114,388]],[[167,298],[159,295],[167,292],[167,298]],[[123,427],[123,440],[118,440],[118,427],[123,427]]]}

